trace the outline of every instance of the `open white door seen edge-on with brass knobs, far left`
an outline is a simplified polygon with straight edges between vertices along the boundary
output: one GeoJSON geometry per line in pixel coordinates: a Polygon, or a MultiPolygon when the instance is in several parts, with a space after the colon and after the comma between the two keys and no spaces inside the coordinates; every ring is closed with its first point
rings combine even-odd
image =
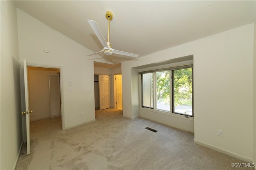
{"type": "MultiPolygon", "coordinates": [[[[21,64],[22,67],[22,64],[21,64]]],[[[22,89],[22,115],[26,117],[26,126],[22,125],[22,127],[26,128],[26,139],[24,139],[25,142],[27,142],[27,154],[30,154],[30,113],[33,111],[30,111],[29,109],[29,100],[28,100],[28,74],[27,74],[27,63],[26,60],[23,60],[23,69],[21,68],[21,71],[24,74],[21,74],[21,85],[24,87],[22,89]],[[25,106],[24,106],[25,105],[25,106]]],[[[23,118],[22,118],[23,119],[23,118]]],[[[24,123],[24,121],[22,121],[24,123]]]]}

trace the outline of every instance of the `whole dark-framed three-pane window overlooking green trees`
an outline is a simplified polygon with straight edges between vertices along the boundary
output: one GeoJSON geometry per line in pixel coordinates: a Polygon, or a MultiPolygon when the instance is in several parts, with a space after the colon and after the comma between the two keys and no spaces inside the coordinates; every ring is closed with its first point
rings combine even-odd
{"type": "Polygon", "coordinates": [[[141,74],[142,107],[193,117],[193,68],[141,74]]]}

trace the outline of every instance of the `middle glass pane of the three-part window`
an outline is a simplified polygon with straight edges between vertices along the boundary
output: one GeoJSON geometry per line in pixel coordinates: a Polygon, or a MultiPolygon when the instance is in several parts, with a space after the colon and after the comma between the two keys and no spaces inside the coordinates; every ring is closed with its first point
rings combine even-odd
{"type": "Polygon", "coordinates": [[[170,111],[170,71],[156,72],[156,108],[170,111]]]}

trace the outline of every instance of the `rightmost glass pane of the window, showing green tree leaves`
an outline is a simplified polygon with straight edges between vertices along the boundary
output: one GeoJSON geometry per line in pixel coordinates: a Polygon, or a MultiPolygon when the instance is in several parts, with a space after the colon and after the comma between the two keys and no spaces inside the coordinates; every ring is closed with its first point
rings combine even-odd
{"type": "Polygon", "coordinates": [[[173,70],[173,78],[173,112],[193,116],[192,68],[173,70]]]}

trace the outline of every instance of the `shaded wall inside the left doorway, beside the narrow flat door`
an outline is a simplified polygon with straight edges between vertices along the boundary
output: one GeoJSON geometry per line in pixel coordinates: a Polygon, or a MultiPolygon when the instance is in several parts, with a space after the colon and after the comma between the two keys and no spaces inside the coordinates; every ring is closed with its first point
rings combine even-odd
{"type": "Polygon", "coordinates": [[[49,74],[56,68],[28,67],[30,122],[50,118],[49,74]]]}

